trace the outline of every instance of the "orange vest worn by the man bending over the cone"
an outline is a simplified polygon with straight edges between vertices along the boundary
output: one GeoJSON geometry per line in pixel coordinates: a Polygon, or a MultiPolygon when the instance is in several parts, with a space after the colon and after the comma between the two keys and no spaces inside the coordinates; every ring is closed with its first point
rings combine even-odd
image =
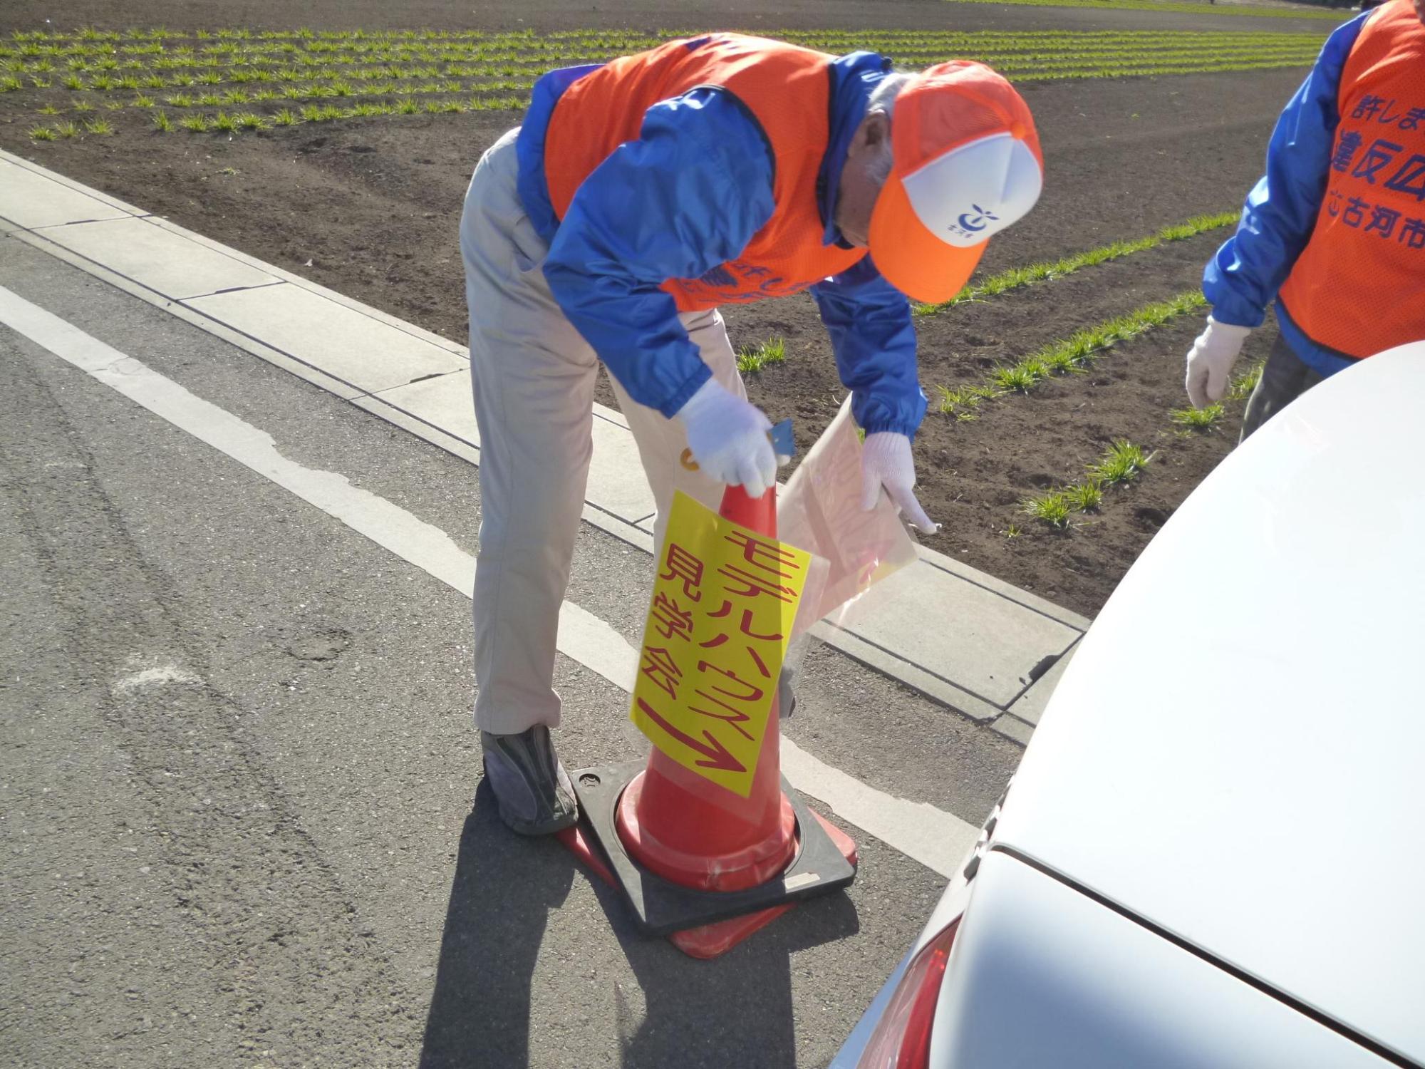
{"type": "Polygon", "coordinates": [[[795,294],[865,257],[824,245],[817,174],[829,138],[832,57],[779,41],[712,34],[695,47],[670,41],[586,74],[559,98],[544,135],[544,178],[564,218],[580,182],[618,145],[634,141],[643,115],[698,86],[737,95],[762,125],[775,160],[774,210],[742,254],[701,278],[663,284],[678,311],[795,294]]]}

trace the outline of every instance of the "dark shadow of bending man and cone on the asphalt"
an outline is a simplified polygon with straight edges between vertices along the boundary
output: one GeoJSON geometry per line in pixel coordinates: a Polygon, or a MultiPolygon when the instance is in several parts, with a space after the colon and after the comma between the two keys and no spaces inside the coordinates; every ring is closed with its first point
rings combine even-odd
{"type": "MultiPolygon", "coordinates": [[[[482,781],[460,835],[422,1069],[530,1065],[530,982],[549,916],[569,897],[574,872],[573,857],[553,840],[512,835],[482,781]]],[[[845,894],[799,905],[721,958],[694,961],[667,939],[643,936],[623,897],[594,885],[644,1003],[640,992],[616,988],[624,1069],[797,1065],[791,955],[859,929],[845,894]]],[[[593,1065],[570,1056],[570,1065],[593,1065]]]]}

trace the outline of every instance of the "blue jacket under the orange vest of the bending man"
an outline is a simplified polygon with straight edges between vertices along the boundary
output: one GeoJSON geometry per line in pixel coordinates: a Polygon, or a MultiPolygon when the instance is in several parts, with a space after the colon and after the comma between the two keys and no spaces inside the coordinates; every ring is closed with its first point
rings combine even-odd
{"type": "MultiPolygon", "coordinates": [[[[519,138],[519,190],[549,242],[544,277],[559,306],[641,405],[673,416],[711,371],[658,286],[737,259],[771,218],[772,158],[757,120],[730,93],[698,87],[648,108],[637,141],[580,185],[563,221],[544,184],[543,131],[560,94],[594,67],[550,71],[534,86],[519,138]]],[[[846,148],[889,60],[832,63],[831,137],[818,181],[825,242],[846,148]]],[[[831,335],[852,413],[866,432],[913,435],[925,415],[911,305],[871,258],[811,288],[831,335]]]]}

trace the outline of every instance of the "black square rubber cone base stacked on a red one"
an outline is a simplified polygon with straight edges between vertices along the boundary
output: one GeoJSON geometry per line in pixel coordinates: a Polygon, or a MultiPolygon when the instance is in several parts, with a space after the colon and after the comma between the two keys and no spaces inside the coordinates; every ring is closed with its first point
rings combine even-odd
{"type": "Polygon", "coordinates": [[[559,835],[590,868],[623,891],[644,932],[670,935],[678,949],[694,958],[712,958],[799,899],[846,887],[855,878],[855,844],[814,814],[785,780],[782,790],[797,815],[798,844],[781,875],[745,891],[700,891],[650,872],[628,857],[616,828],[618,798],[644,765],[630,761],[570,773],[581,815],[577,827],[559,835]]]}

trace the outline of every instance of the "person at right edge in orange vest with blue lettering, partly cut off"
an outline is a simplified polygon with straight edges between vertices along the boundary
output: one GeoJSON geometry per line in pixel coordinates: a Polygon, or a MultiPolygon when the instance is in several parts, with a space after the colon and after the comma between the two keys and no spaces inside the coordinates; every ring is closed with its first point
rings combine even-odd
{"type": "Polygon", "coordinates": [[[1213,305],[1187,396],[1221,401],[1275,301],[1281,335],[1243,438],[1358,359],[1425,338],[1425,0],[1340,27],[1287,104],[1267,174],[1203,274],[1213,305]]]}

